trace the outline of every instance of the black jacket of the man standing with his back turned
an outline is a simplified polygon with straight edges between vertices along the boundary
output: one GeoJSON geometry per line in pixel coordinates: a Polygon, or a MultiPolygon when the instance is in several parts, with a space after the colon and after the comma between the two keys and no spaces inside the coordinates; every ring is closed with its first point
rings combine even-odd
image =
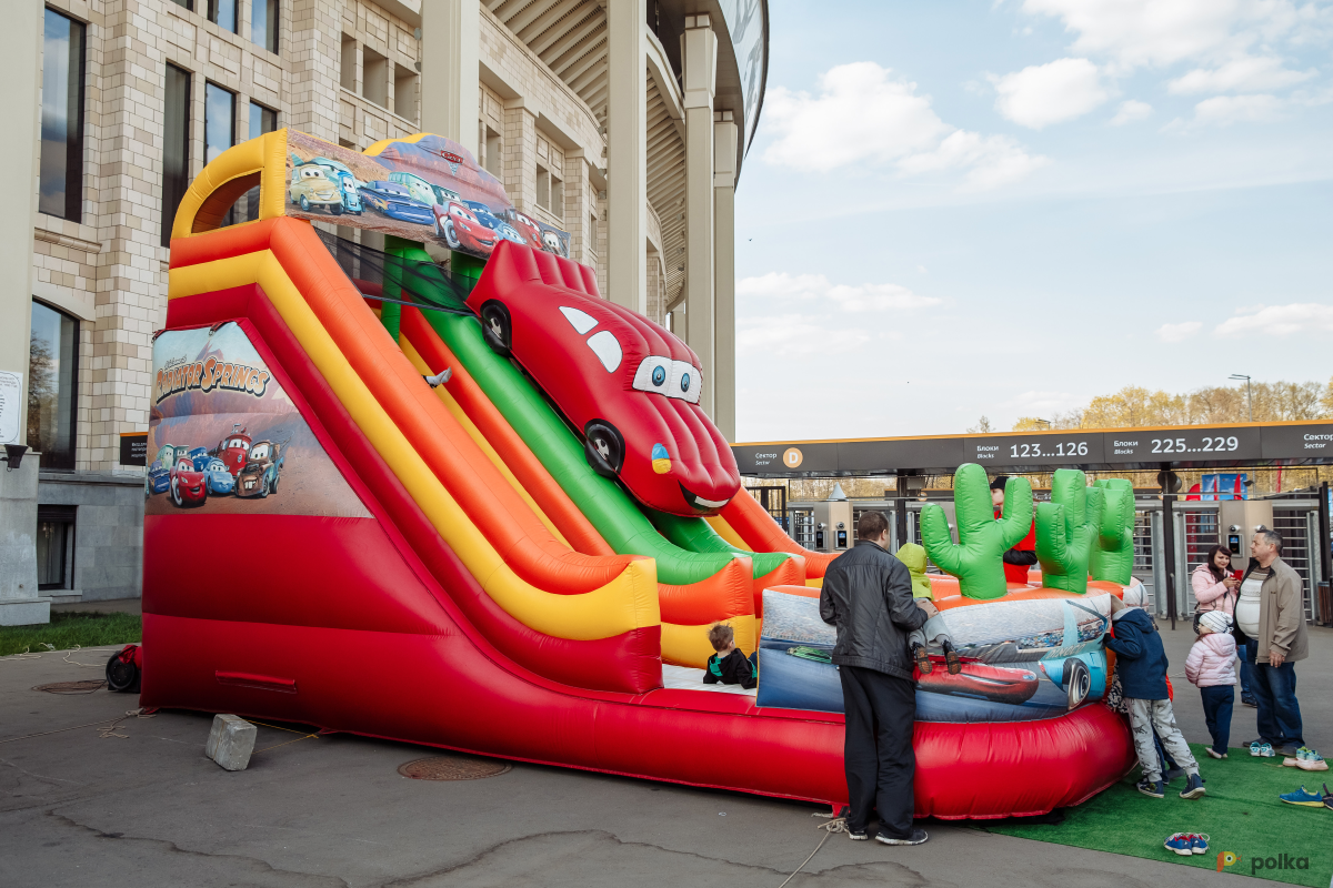
{"type": "Polygon", "coordinates": [[[926,615],[912,599],[906,566],[877,543],[862,539],[829,563],[820,616],[837,627],[834,664],[912,679],[908,632],[926,615]]]}

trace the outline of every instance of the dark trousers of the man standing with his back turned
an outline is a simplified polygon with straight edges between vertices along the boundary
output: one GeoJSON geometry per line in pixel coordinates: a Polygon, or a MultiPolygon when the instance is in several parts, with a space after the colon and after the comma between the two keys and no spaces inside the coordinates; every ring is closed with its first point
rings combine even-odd
{"type": "Polygon", "coordinates": [[[894,839],[912,836],[912,726],[916,688],[874,670],[840,666],[842,704],[846,708],[846,792],[852,813],[846,825],[862,832],[870,808],[880,812],[880,832],[894,839]]]}

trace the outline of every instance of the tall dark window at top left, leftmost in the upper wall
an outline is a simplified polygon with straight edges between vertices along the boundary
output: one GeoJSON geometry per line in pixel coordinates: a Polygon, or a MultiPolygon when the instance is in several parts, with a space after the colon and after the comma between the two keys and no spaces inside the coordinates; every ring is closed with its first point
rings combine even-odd
{"type": "Polygon", "coordinates": [[[47,9],[41,45],[41,197],[37,208],[83,221],[84,25],[47,9]]]}

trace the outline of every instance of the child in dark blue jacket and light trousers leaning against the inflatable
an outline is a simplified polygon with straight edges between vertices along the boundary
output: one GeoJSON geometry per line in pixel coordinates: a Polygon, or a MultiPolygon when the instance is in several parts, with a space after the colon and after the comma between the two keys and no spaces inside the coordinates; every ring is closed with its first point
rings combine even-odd
{"type": "Polygon", "coordinates": [[[1129,707],[1134,751],[1144,770],[1144,777],[1134,788],[1153,799],[1166,795],[1161,760],[1153,743],[1156,730],[1176,764],[1185,770],[1185,789],[1180,797],[1198,799],[1206,789],[1198,776],[1198,763],[1176,727],[1176,712],[1166,694],[1166,651],[1157,623],[1142,608],[1126,607],[1116,596],[1110,599],[1110,619],[1116,635],[1106,636],[1106,650],[1116,652],[1116,672],[1129,707]]]}

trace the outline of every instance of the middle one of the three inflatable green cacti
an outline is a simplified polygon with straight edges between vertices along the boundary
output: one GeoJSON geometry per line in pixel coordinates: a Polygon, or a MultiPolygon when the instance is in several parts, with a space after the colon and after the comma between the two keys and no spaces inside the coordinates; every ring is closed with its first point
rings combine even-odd
{"type": "Polygon", "coordinates": [[[1037,503],[1037,560],[1041,584],[1088,591],[1088,559],[1101,527],[1102,487],[1089,487],[1077,469],[1057,469],[1050,502],[1037,503]]]}

